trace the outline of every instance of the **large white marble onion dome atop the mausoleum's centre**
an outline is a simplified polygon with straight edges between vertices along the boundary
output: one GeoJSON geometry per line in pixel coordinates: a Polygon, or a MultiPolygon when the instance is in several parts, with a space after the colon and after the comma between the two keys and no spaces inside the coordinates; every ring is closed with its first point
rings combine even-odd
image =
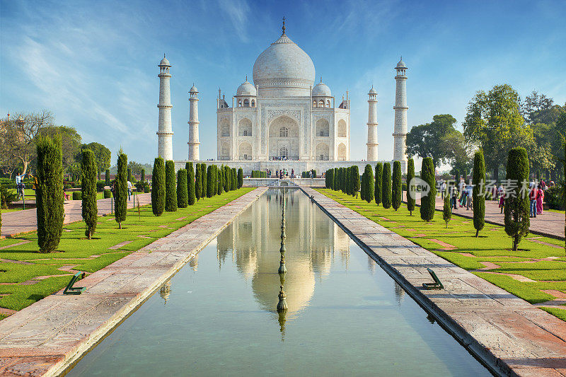
{"type": "MultiPolygon", "coordinates": [[[[299,89],[296,94],[309,95],[314,83],[314,64],[301,47],[283,33],[260,54],[253,64],[253,83],[262,88],[299,89]]],[[[271,90],[269,90],[271,92],[271,90]]],[[[287,92],[287,93],[286,93],[287,92]]]]}

